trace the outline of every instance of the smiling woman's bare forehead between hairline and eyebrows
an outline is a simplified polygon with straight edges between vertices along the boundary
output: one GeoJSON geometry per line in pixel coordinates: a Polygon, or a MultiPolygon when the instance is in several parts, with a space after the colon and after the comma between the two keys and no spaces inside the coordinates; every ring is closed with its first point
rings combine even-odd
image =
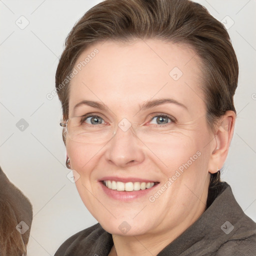
{"type": "Polygon", "coordinates": [[[162,96],[186,104],[202,101],[200,64],[185,44],[157,39],[95,43],[74,65],[77,74],[70,82],[69,109],[84,99],[126,106],[162,96]]]}

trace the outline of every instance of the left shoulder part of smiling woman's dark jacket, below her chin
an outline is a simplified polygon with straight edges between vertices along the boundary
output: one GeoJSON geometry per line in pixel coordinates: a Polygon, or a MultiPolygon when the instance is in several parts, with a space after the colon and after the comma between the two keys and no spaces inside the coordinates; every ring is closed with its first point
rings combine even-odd
{"type": "Polygon", "coordinates": [[[54,256],[94,255],[102,249],[103,243],[112,246],[111,234],[107,233],[99,223],[90,226],[65,240],[54,256]],[[80,254],[82,253],[82,254],[80,254]]]}

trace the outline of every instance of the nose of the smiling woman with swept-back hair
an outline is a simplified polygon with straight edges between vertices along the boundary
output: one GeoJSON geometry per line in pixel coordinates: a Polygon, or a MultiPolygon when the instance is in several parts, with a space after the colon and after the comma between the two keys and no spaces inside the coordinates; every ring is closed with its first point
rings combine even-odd
{"type": "Polygon", "coordinates": [[[114,136],[107,144],[105,157],[108,163],[118,167],[127,167],[144,160],[143,143],[132,127],[126,131],[117,127],[114,136]]]}

